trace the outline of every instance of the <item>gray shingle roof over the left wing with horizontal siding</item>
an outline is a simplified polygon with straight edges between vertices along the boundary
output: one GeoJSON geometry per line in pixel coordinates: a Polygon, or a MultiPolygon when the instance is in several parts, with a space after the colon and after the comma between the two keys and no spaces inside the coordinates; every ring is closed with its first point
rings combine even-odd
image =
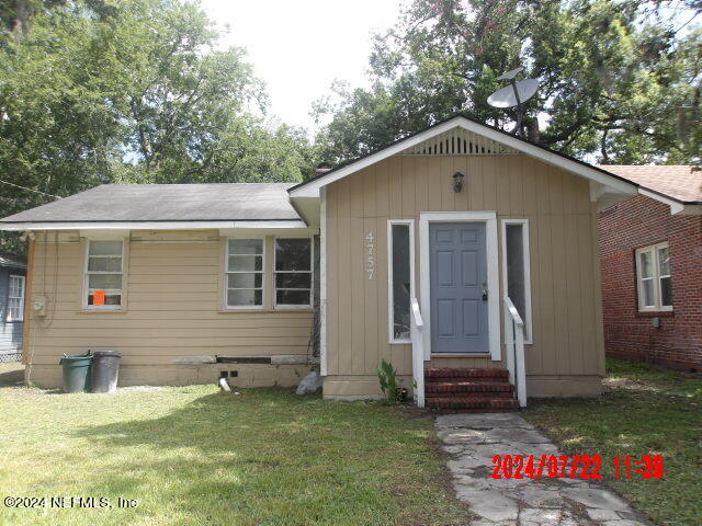
{"type": "Polygon", "coordinates": [[[299,220],[294,183],[104,184],[0,222],[299,220]]]}

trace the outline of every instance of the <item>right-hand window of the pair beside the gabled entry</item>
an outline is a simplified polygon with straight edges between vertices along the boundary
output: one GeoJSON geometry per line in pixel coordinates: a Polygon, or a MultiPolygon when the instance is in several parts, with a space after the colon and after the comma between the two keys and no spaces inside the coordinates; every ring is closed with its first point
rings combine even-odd
{"type": "Polygon", "coordinates": [[[310,238],[275,239],[275,307],[312,307],[313,248],[310,238]]]}

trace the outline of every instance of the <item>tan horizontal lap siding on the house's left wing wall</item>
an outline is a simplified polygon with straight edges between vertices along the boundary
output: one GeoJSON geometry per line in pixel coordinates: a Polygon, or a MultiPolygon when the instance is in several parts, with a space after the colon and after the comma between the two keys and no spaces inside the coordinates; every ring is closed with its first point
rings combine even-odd
{"type": "Polygon", "coordinates": [[[133,239],[126,312],[80,312],[82,245],[71,239],[35,243],[32,294],[49,300],[46,320],[31,324],[35,365],[54,365],[61,353],[88,348],[120,351],[124,366],[167,366],[183,356],[308,353],[310,312],[219,312],[218,239],[133,239]]]}

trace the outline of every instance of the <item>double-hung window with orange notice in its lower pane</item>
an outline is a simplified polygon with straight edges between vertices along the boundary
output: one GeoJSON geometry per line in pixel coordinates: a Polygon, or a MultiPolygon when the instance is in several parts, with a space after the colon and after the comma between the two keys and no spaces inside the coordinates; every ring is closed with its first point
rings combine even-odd
{"type": "Polygon", "coordinates": [[[122,309],[124,242],[88,241],[84,307],[90,310],[122,309]]]}

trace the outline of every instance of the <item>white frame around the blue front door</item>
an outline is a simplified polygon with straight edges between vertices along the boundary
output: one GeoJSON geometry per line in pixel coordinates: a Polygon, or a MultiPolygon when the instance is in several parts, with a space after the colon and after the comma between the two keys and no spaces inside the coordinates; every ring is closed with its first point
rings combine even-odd
{"type": "Polygon", "coordinates": [[[424,359],[431,359],[431,282],[429,273],[430,222],[485,222],[487,258],[487,311],[490,358],[499,362],[500,352],[500,278],[497,244],[497,213],[495,211],[427,211],[419,215],[419,266],[421,316],[424,320],[424,359]]]}

